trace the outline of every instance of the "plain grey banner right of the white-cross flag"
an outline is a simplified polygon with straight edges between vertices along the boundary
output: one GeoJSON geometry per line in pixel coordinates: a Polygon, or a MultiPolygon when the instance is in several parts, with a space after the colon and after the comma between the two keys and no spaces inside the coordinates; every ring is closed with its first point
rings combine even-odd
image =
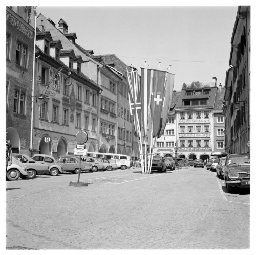
{"type": "Polygon", "coordinates": [[[162,109],[161,119],[160,119],[160,129],[157,134],[157,138],[162,136],[167,123],[168,113],[170,110],[170,106],[172,105],[173,88],[174,88],[174,75],[167,73],[166,85],[165,85],[165,97],[164,97],[163,109],[162,109]]]}

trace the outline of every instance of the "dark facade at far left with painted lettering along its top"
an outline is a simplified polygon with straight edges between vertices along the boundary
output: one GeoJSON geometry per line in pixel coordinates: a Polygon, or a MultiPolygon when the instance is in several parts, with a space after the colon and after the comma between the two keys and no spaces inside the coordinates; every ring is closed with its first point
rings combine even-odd
{"type": "Polygon", "coordinates": [[[34,7],[6,7],[6,131],[13,152],[26,154],[31,136],[34,39],[34,7]]]}

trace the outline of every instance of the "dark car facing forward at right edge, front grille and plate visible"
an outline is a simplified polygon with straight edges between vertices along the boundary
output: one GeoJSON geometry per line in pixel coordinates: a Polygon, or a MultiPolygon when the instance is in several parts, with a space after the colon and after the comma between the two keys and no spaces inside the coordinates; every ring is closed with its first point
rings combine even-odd
{"type": "Polygon", "coordinates": [[[223,172],[227,192],[232,187],[250,188],[250,154],[227,155],[223,172]]]}

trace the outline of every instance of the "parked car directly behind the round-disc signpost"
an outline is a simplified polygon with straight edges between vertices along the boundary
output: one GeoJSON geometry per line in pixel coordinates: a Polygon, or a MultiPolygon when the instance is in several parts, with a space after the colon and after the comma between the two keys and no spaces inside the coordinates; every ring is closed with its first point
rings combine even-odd
{"type": "Polygon", "coordinates": [[[84,162],[77,156],[59,156],[56,158],[58,164],[62,167],[63,170],[69,173],[78,174],[79,173],[79,167],[80,167],[80,173],[82,171],[91,170],[92,164],[88,162],[84,162]]]}

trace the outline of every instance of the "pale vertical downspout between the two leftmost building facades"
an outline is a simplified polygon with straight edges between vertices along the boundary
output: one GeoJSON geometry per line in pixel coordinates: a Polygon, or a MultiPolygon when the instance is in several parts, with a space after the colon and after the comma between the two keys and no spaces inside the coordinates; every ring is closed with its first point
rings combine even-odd
{"type": "Polygon", "coordinates": [[[36,42],[36,7],[34,7],[34,14],[35,14],[35,34],[34,34],[34,52],[33,52],[33,73],[32,73],[32,99],[31,99],[31,126],[30,126],[30,156],[32,157],[33,154],[33,126],[34,126],[34,87],[35,87],[35,42],[36,42]]]}

